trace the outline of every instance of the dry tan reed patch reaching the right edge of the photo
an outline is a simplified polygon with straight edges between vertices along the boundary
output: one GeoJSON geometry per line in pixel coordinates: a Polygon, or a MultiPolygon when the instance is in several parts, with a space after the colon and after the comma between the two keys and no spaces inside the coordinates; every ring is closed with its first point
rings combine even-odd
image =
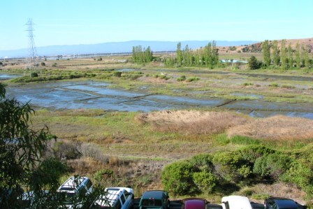
{"type": "Polygon", "coordinates": [[[313,120],[276,115],[254,120],[228,129],[228,137],[248,136],[270,140],[304,140],[313,138],[313,120]]]}

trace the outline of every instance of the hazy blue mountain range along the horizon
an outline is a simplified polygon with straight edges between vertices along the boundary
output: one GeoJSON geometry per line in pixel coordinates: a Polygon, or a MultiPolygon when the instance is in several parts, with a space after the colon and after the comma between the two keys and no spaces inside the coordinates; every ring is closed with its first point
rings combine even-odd
{"type": "MultiPolygon", "coordinates": [[[[133,46],[141,45],[143,48],[150,46],[153,52],[175,51],[179,41],[125,41],[97,44],[80,45],[52,45],[38,47],[38,56],[55,55],[88,55],[105,53],[131,52],[133,46]]],[[[182,49],[188,45],[191,49],[201,48],[212,41],[180,41],[182,49]]],[[[240,46],[250,45],[258,41],[217,41],[217,46],[240,46]]],[[[27,57],[27,49],[21,50],[0,50],[0,58],[27,57]]]]}

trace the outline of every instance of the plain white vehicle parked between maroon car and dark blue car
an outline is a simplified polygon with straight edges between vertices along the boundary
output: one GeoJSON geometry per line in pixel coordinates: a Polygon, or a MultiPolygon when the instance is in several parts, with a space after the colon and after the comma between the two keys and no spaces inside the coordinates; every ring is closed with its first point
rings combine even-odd
{"type": "Polygon", "coordinates": [[[223,209],[253,209],[247,196],[224,196],[221,206],[223,209]]]}

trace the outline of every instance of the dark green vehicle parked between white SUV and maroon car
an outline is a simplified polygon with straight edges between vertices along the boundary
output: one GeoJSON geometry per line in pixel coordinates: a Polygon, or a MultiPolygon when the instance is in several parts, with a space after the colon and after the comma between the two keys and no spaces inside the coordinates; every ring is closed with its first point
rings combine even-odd
{"type": "Polygon", "coordinates": [[[150,190],[143,193],[141,196],[139,209],[168,209],[170,208],[168,192],[163,190],[150,190]]]}

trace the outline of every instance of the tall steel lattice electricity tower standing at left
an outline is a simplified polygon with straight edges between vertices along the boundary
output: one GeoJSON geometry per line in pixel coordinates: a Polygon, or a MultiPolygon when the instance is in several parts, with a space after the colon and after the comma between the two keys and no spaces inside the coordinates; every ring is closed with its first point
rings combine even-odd
{"type": "MultiPolygon", "coordinates": [[[[29,70],[29,75],[31,76],[31,70],[35,70],[39,64],[38,64],[38,55],[37,50],[34,42],[34,28],[33,28],[33,20],[29,19],[27,22],[27,30],[28,31],[28,56],[26,59],[26,67],[25,70],[29,70]]],[[[24,72],[25,73],[25,72],[24,72]]]]}

